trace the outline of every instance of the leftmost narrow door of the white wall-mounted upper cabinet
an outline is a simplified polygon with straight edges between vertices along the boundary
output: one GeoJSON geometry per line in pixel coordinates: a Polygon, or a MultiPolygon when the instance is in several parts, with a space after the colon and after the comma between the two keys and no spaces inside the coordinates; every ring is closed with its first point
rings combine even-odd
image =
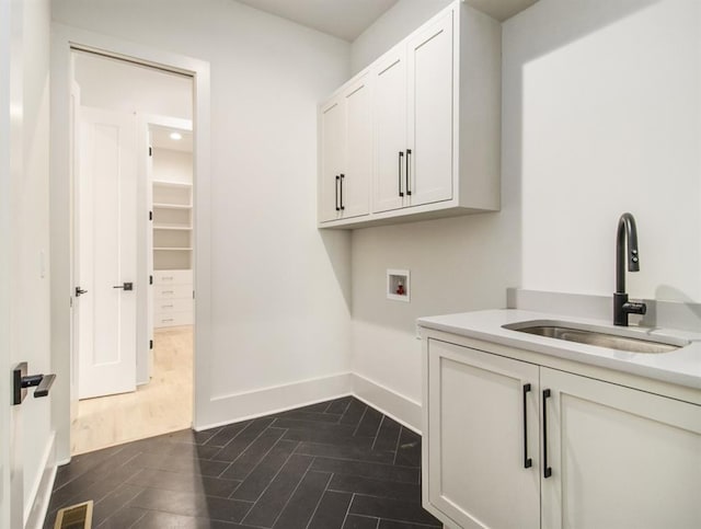
{"type": "Polygon", "coordinates": [[[341,212],[341,173],[345,158],[345,107],[341,97],[321,108],[321,163],[319,175],[319,220],[335,220],[341,212]]]}

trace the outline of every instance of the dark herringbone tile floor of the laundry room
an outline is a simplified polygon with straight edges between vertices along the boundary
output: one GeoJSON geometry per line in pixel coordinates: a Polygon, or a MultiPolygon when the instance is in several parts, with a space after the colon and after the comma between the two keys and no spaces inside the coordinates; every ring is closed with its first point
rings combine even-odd
{"type": "Polygon", "coordinates": [[[345,396],[77,456],[44,527],[88,499],[104,529],[441,527],[420,483],[421,437],[345,396]]]}

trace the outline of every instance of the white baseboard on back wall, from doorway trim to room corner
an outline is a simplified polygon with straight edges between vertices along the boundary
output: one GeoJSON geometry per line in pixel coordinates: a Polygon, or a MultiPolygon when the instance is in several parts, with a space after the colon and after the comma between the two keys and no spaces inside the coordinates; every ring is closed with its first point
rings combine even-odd
{"type": "Polygon", "coordinates": [[[216,428],[226,424],[262,417],[295,407],[315,404],[350,394],[352,373],[344,372],[290,384],[223,395],[211,399],[205,417],[196,417],[193,429],[216,428]]]}

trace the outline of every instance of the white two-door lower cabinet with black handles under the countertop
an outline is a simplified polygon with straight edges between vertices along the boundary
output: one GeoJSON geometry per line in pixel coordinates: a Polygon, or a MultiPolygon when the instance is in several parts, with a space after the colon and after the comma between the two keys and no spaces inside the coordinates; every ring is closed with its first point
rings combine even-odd
{"type": "Polygon", "coordinates": [[[447,527],[701,527],[701,406],[502,353],[426,343],[424,505],[447,527]]]}

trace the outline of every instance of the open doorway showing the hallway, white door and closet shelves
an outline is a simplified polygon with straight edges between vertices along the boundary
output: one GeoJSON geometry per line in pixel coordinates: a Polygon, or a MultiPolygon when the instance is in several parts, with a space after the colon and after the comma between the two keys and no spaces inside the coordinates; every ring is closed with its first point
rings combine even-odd
{"type": "Polygon", "coordinates": [[[71,455],[193,424],[192,78],[71,51],[71,455]]]}

